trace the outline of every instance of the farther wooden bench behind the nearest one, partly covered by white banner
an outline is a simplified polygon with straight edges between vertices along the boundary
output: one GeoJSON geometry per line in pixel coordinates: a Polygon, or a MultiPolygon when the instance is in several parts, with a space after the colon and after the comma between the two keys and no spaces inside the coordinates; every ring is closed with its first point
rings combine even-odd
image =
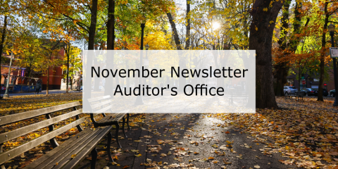
{"type": "Polygon", "coordinates": [[[113,113],[112,111],[113,105],[111,101],[111,96],[100,96],[100,97],[88,99],[88,101],[92,108],[92,113],[90,113],[90,118],[92,119],[94,126],[100,127],[100,126],[107,126],[107,125],[115,125],[115,128],[116,128],[115,139],[116,139],[118,146],[122,148],[122,146],[120,145],[120,142],[118,141],[118,131],[120,130],[119,121],[122,120],[123,134],[127,138],[127,135],[125,134],[125,122],[126,122],[125,118],[127,116],[127,127],[128,127],[128,130],[130,130],[130,125],[129,125],[130,114],[128,113],[128,110],[121,111],[119,113],[113,113]],[[104,115],[104,118],[96,122],[94,118],[96,115],[99,115],[100,113],[104,115]],[[108,115],[106,113],[108,113],[108,115]]]}

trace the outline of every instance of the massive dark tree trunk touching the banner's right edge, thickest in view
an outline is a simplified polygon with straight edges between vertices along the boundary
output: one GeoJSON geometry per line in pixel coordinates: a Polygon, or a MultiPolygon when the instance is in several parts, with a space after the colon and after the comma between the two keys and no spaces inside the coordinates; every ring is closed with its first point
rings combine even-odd
{"type": "Polygon", "coordinates": [[[280,1],[256,0],[251,11],[249,49],[256,50],[256,108],[278,107],[273,91],[271,47],[275,21],[281,8],[280,1]],[[273,4],[271,8],[270,2],[273,4]]]}

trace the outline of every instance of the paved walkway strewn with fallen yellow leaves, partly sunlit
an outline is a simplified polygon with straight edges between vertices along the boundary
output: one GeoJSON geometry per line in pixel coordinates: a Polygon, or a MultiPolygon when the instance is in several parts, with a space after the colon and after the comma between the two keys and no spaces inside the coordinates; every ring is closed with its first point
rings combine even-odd
{"type": "MultiPolygon", "coordinates": [[[[204,114],[146,114],[144,123],[127,132],[128,138],[120,138],[123,149],[116,151],[116,143],[112,144],[115,163],[101,153],[96,168],[296,167],[280,163],[288,158],[279,153],[264,155],[262,149],[271,149],[266,143],[224,124],[204,114]]],[[[268,137],[261,139],[274,143],[268,137]]],[[[89,166],[85,159],[80,168],[89,166]]]]}

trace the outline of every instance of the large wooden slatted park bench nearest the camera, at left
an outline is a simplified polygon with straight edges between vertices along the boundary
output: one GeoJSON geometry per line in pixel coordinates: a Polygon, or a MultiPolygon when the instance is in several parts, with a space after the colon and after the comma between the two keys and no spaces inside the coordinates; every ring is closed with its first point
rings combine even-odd
{"type": "MultiPolygon", "coordinates": [[[[54,149],[49,151],[47,154],[44,154],[36,161],[30,163],[30,165],[25,166],[25,168],[74,168],[76,165],[80,163],[88,154],[92,154],[91,168],[95,168],[96,158],[97,158],[97,150],[96,145],[99,144],[101,139],[108,136],[106,149],[100,149],[106,151],[108,154],[108,158],[113,161],[111,157],[111,129],[113,128],[111,125],[106,127],[97,127],[91,128],[87,127],[82,130],[80,124],[86,122],[86,118],[80,118],[80,113],[82,113],[82,108],[77,109],[76,107],[80,106],[80,102],[73,102],[70,104],[63,104],[60,106],[52,106],[48,108],[42,108],[35,111],[27,111],[23,113],[16,113],[12,115],[5,115],[0,117],[0,126],[1,125],[9,125],[11,123],[22,121],[25,123],[29,121],[30,118],[36,118],[40,115],[46,115],[46,120],[42,120],[37,123],[32,123],[30,125],[25,125],[24,127],[20,127],[18,129],[4,132],[0,134],[0,165],[1,168],[4,168],[4,163],[9,161],[11,158],[15,156],[19,156],[20,154],[25,153],[25,151],[29,151],[30,149],[39,146],[44,142],[49,141],[51,146],[54,149]],[[61,115],[57,115],[55,113],[53,118],[51,117],[51,113],[56,111],[63,111],[66,109],[72,109],[68,113],[63,113],[61,115]],[[75,117],[75,121],[69,123],[68,125],[60,126],[57,129],[54,129],[55,123],[59,123],[63,120],[67,120],[68,118],[75,117]],[[11,139],[15,139],[17,137],[21,137],[30,132],[34,132],[44,127],[49,127],[49,132],[42,135],[41,137],[37,137],[36,139],[32,139],[29,142],[25,142],[24,144],[14,147],[13,149],[9,149],[8,151],[3,151],[4,142],[8,142],[11,139]],[[73,137],[63,142],[63,144],[58,145],[55,137],[62,134],[63,132],[67,132],[73,127],[77,127],[79,133],[75,134],[73,137]]],[[[95,123],[94,123],[95,124],[95,123]]]]}

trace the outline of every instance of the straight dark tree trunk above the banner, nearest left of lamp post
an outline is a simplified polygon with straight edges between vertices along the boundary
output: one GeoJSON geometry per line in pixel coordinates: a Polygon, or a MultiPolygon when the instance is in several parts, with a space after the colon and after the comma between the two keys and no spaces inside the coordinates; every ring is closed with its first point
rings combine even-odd
{"type": "MultiPolygon", "coordinates": [[[[115,43],[115,1],[108,0],[108,21],[107,21],[107,50],[114,50],[115,43]]],[[[114,64],[113,56],[106,56],[106,61],[110,65],[114,64]]],[[[113,78],[106,78],[104,95],[113,97],[113,78]]]]}

